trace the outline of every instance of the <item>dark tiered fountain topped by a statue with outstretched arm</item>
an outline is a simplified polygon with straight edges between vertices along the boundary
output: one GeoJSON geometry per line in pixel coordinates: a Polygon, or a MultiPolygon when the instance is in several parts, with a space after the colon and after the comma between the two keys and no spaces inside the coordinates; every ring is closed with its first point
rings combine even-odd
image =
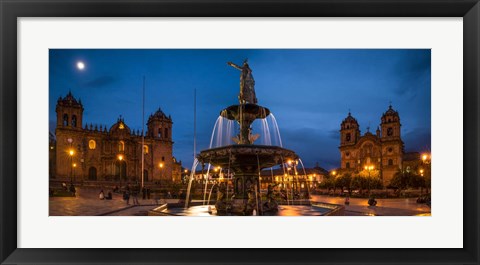
{"type": "MultiPolygon", "coordinates": [[[[218,214],[252,215],[276,212],[278,204],[272,196],[273,186],[269,186],[267,201],[261,201],[260,171],[286,161],[297,160],[294,151],[279,147],[256,145],[258,134],[252,133],[252,123],[270,115],[268,108],[257,104],[255,81],[247,60],[242,66],[229,62],[228,65],[241,71],[238,105],[232,105],[220,112],[220,116],[239,124],[238,135],[233,137],[236,144],[203,150],[197,156],[202,164],[228,169],[233,175],[233,197],[227,198],[227,186],[221,183],[217,189],[215,208],[218,214]]],[[[231,193],[229,194],[230,197],[231,193]]]]}

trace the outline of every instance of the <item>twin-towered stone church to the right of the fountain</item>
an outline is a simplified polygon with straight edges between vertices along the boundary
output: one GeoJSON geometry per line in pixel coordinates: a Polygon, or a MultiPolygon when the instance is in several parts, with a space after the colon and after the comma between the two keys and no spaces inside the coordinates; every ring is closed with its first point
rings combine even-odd
{"type": "Polygon", "coordinates": [[[348,113],[340,126],[341,169],[378,170],[384,185],[402,169],[404,144],[401,137],[400,116],[390,105],[381,117],[375,134],[369,130],[363,135],[357,120],[348,113]]]}

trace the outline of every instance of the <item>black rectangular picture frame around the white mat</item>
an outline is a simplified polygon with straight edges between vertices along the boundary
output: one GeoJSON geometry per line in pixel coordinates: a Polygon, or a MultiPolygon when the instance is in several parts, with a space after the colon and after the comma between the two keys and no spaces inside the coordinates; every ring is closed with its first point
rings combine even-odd
{"type": "Polygon", "coordinates": [[[477,192],[480,190],[478,182],[480,4],[478,0],[0,0],[0,14],[0,261],[2,264],[479,264],[479,196],[477,192]],[[17,18],[161,16],[463,17],[464,247],[462,249],[17,248],[17,18]]]}

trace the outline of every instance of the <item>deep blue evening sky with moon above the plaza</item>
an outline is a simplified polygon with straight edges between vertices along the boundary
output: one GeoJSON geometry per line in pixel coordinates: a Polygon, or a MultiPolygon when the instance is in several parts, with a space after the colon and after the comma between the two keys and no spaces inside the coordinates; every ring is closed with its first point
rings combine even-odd
{"type": "Polygon", "coordinates": [[[119,115],[141,130],[142,79],[146,117],[171,115],[174,155],[193,161],[193,99],[197,90],[197,152],[208,148],[219,112],[238,103],[240,72],[227,65],[248,58],[258,104],[274,113],[283,146],[305,166],[339,166],[339,128],[350,110],[375,131],[389,102],[400,114],[406,151],[430,150],[430,50],[50,50],[49,120],[68,91],[82,100],[84,123],[107,125],[119,115]],[[84,70],[76,67],[78,61],[84,70]]]}

